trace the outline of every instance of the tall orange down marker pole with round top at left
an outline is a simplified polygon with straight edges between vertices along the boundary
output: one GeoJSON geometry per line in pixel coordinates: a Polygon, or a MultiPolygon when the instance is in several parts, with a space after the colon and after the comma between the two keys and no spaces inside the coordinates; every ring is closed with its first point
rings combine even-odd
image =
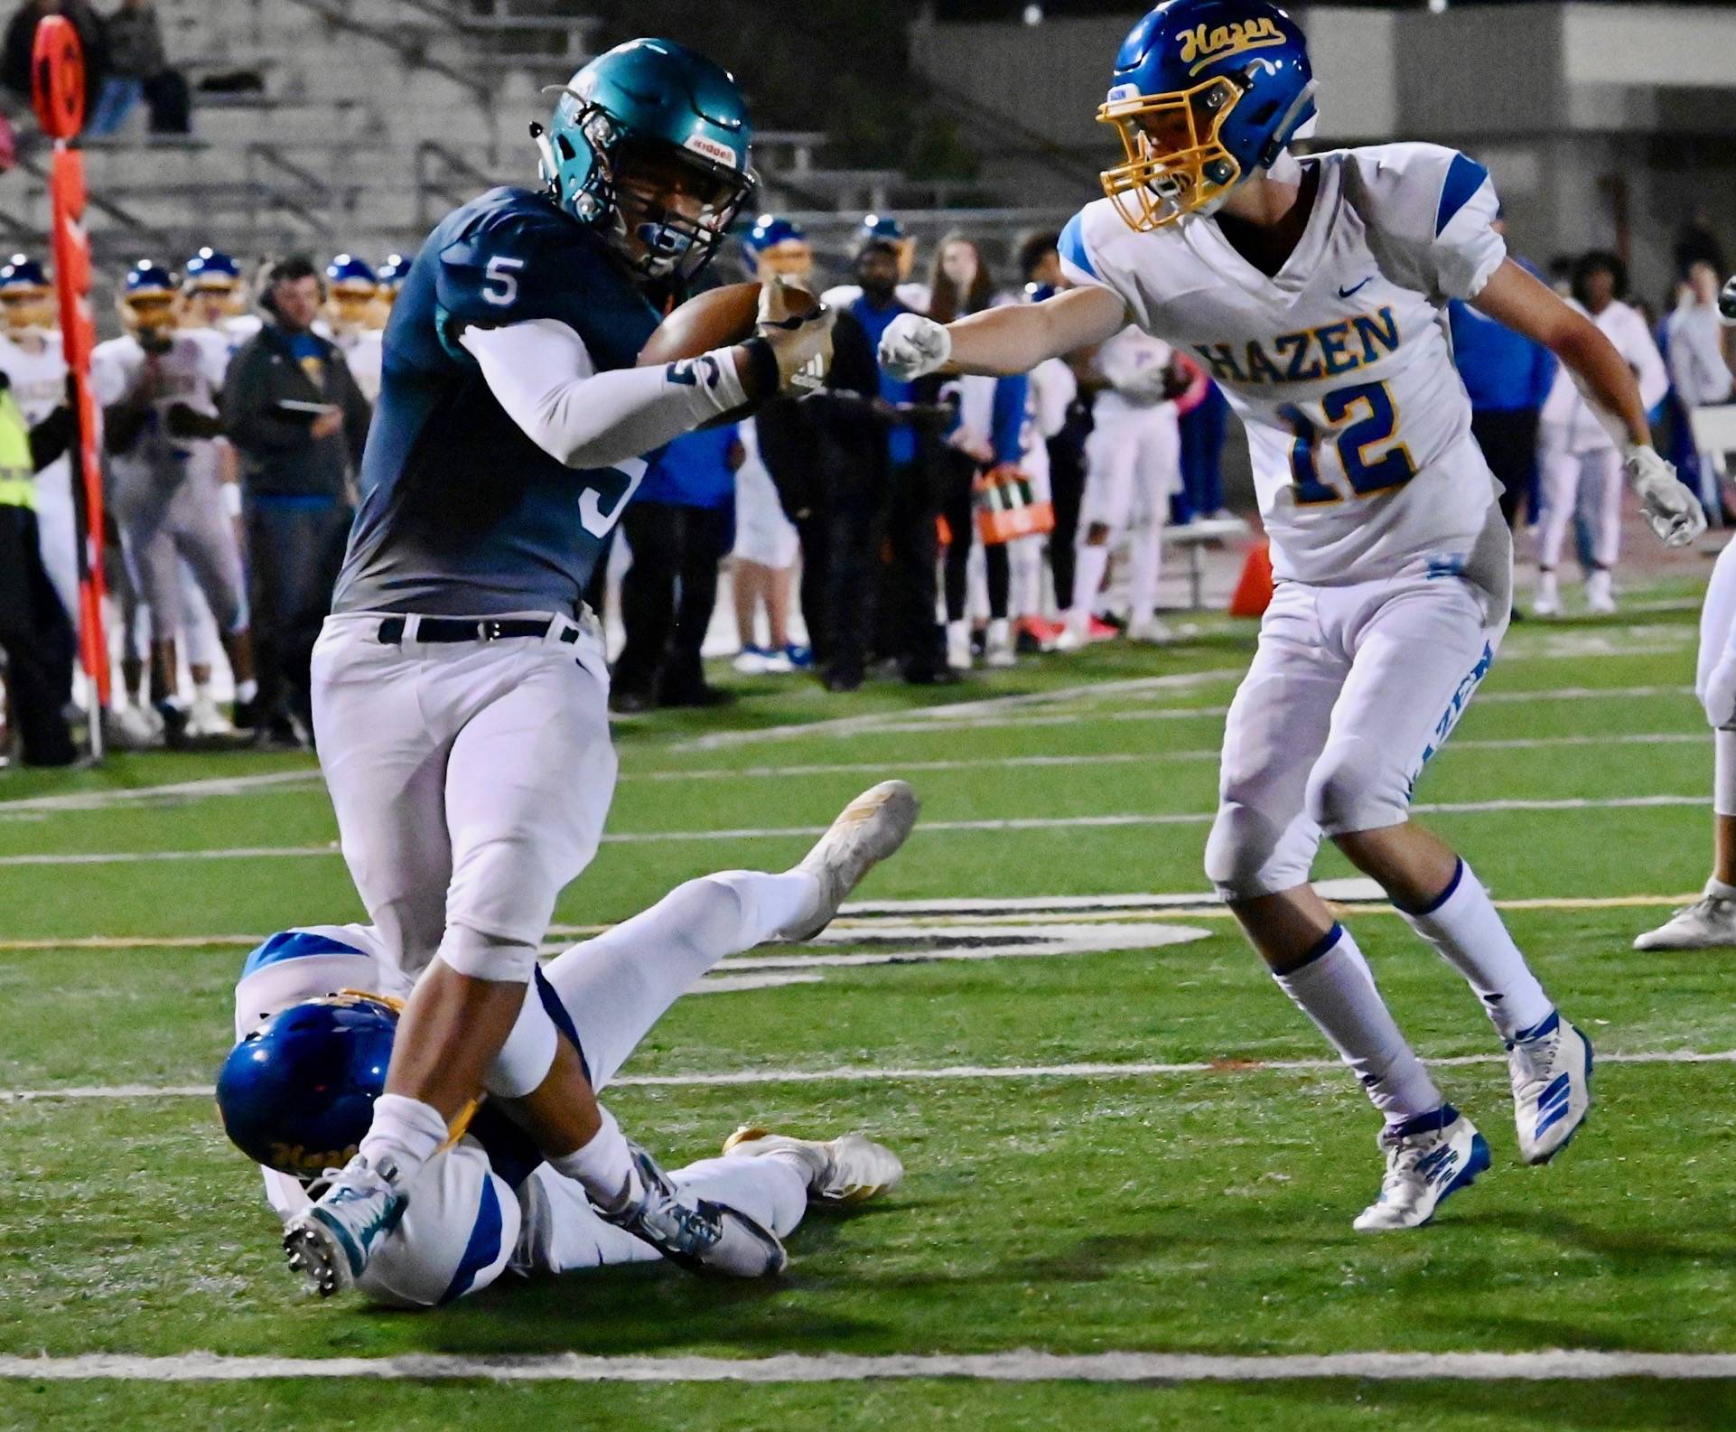
{"type": "Polygon", "coordinates": [[[109,701],[108,640],[102,635],[102,465],[97,458],[97,404],[90,389],[90,240],[85,234],[85,156],[73,141],[85,123],[85,56],[64,16],[43,16],[31,52],[36,120],[54,141],[49,200],[54,212],[54,283],[61,300],[66,401],[73,410],[78,481],[78,649],[92,687],[90,753],[102,753],[102,713],[109,701]]]}

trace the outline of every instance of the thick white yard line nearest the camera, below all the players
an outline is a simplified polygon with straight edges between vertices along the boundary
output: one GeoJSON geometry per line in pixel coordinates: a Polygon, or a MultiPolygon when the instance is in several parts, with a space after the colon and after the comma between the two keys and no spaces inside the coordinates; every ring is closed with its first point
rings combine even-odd
{"type": "Polygon", "coordinates": [[[771,1357],[597,1357],[554,1352],[477,1357],[418,1352],[398,1357],[222,1357],[182,1352],[135,1357],[0,1357],[0,1378],[24,1382],[257,1382],[262,1378],[368,1378],[375,1382],[1670,1382],[1736,1378],[1733,1352],[779,1352],[771,1357]]]}

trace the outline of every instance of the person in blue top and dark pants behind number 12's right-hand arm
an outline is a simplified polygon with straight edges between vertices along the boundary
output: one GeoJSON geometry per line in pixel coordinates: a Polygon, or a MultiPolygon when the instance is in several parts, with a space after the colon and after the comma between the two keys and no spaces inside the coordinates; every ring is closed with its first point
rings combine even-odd
{"type": "MultiPolygon", "coordinates": [[[[1495,231],[1507,233],[1505,217],[1496,215],[1495,231]]],[[[1555,382],[1555,358],[1458,299],[1448,304],[1448,323],[1453,361],[1470,394],[1470,430],[1502,483],[1502,516],[1510,528],[1531,522],[1538,510],[1538,415],[1555,382]]]]}

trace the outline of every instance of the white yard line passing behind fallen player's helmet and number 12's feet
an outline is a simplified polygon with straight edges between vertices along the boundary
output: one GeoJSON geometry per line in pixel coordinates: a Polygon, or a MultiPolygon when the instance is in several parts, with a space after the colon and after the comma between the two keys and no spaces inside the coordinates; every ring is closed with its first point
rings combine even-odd
{"type": "MultiPolygon", "coordinates": [[[[1424,1055],[1436,1069],[1462,1069],[1477,1064],[1500,1064],[1502,1054],[1450,1054],[1439,1059],[1424,1055]]],[[[1597,1054],[1599,1064],[1736,1064],[1736,1048],[1653,1050],[1637,1054],[1597,1054]]],[[[1193,1062],[1125,1062],[1125,1064],[946,1064],[929,1069],[875,1069],[845,1066],[838,1069],[726,1069],[693,1074],[623,1074],[611,1088],[734,1088],[764,1083],[960,1083],[977,1080],[1147,1080],[1179,1078],[1189,1074],[1321,1074],[1342,1069],[1337,1059],[1217,1059],[1193,1062]]],[[[83,1099],[212,1099],[212,1085],[66,1085],[62,1088],[0,1090],[0,1104],[61,1102],[83,1099]]]]}

